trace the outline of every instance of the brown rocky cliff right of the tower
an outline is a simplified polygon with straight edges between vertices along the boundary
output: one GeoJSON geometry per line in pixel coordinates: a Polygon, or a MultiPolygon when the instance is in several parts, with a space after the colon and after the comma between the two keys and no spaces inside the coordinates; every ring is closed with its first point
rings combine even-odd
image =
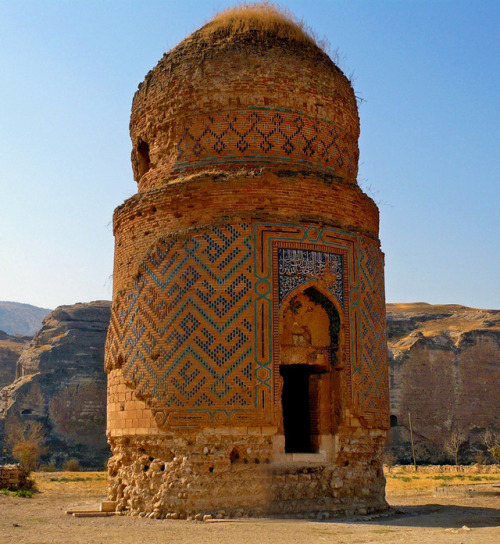
{"type": "Polygon", "coordinates": [[[411,460],[409,413],[417,461],[449,459],[453,431],[462,462],[487,458],[484,431],[500,433],[500,310],[388,304],[387,332],[396,460],[411,460]]]}

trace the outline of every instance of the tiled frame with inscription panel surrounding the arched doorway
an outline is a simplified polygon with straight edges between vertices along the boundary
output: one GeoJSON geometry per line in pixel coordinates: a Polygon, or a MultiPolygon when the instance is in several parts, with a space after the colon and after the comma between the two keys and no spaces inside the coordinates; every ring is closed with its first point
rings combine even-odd
{"type": "Polygon", "coordinates": [[[347,324],[345,383],[354,413],[385,426],[388,414],[383,259],[363,236],[315,226],[254,225],[257,385],[279,391],[281,302],[304,284],[329,291],[347,324]],[[325,272],[327,272],[325,274],[325,272]],[[335,278],[335,281],[331,281],[335,278]]]}

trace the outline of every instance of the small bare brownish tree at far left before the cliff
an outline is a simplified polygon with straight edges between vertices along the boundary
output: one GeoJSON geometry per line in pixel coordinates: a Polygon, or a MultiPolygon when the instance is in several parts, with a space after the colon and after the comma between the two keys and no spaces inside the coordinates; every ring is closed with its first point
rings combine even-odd
{"type": "Polygon", "coordinates": [[[20,424],[17,420],[9,420],[6,425],[7,444],[12,449],[12,456],[28,471],[34,470],[38,459],[47,451],[43,445],[45,431],[39,421],[28,421],[20,424]]]}

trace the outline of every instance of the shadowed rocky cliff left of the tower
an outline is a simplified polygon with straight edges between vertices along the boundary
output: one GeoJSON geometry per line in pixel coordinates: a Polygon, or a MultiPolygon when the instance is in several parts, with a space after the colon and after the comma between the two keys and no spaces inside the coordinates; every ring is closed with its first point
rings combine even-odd
{"type": "Polygon", "coordinates": [[[110,308],[108,301],[60,306],[45,318],[17,362],[17,379],[0,391],[0,442],[9,425],[37,420],[47,434],[45,462],[75,457],[103,468],[110,308]]]}

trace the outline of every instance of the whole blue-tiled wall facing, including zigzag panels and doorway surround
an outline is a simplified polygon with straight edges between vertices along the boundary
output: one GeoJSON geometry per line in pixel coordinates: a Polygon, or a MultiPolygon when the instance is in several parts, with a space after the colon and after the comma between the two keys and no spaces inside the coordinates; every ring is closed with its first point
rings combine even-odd
{"type": "Polygon", "coordinates": [[[383,428],[383,255],[333,228],[241,223],[159,240],[114,297],[107,369],[121,366],[159,425],[273,423],[280,307],[309,283],[330,293],[343,323],[345,401],[383,428]]]}

